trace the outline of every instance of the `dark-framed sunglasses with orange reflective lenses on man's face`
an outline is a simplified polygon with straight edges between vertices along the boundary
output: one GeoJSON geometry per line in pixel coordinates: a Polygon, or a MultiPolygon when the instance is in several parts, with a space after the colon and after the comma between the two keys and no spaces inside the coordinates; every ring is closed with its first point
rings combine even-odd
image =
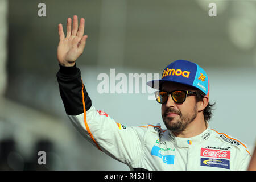
{"type": "Polygon", "coordinates": [[[188,91],[188,90],[174,90],[172,92],[159,90],[155,92],[155,98],[156,98],[156,101],[158,101],[158,103],[164,104],[168,100],[169,95],[171,95],[174,102],[180,104],[185,102],[188,94],[196,95],[196,92],[188,91]]]}

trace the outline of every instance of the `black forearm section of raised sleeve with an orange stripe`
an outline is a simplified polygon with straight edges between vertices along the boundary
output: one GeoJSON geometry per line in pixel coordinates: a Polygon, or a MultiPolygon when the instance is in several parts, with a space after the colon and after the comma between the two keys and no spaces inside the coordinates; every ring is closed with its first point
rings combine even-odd
{"type": "Polygon", "coordinates": [[[92,101],[82,83],[81,72],[76,64],[73,67],[60,65],[60,70],[57,72],[57,81],[59,82],[60,96],[68,115],[84,113],[83,98],[85,110],[90,109],[92,101]]]}

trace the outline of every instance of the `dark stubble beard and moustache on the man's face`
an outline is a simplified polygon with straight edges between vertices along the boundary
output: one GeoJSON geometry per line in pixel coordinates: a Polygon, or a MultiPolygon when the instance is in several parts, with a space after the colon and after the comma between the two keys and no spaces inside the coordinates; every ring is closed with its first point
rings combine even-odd
{"type": "Polygon", "coordinates": [[[191,123],[197,116],[197,106],[195,105],[192,114],[183,115],[180,111],[177,111],[173,108],[168,108],[162,114],[164,125],[166,125],[167,129],[173,132],[181,132],[184,131],[189,123],[191,123]],[[176,113],[179,114],[179,119],[176,122],[172,122],[174,117],[167,117],[167,113],[176,113]]]}

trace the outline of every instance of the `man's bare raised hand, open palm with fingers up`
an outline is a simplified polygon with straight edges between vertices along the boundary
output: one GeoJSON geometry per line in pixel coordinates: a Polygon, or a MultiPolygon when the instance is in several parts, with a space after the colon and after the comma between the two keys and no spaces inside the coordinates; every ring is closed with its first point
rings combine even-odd
{"type": "Polygon", "coordinates": [[[71,18],[67,19],[67,35],[63,32],[63,26],[60,23],[59,35],[60,42],[57,49],[57,60],[60,65],[65,67],[72,67],[75,65],[75,61],[84,51],[86,39],[88,35],[84,35],[84,18],[80,19],[80,25],[78,28],[78,18],[73,16],[73,27],[71,28],[71,18]]]}

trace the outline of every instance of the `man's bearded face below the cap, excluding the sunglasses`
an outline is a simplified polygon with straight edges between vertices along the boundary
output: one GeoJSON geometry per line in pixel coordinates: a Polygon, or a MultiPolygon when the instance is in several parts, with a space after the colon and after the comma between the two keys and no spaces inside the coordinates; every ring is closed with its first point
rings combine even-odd
{"type": "MultiPolygon", "coordinates": [[[[174,82],[164,82],[162,90],[190,90],[195,91],[191,86],[177,84],[174,82]]],[[[186,100],[177,104],[169,95],[166,103],[162,104],[162,118],[168,130],[174,132],[184,131],[189,123],[191,123],[197,116],[196,97],[188,95],[186,100]]]]}

